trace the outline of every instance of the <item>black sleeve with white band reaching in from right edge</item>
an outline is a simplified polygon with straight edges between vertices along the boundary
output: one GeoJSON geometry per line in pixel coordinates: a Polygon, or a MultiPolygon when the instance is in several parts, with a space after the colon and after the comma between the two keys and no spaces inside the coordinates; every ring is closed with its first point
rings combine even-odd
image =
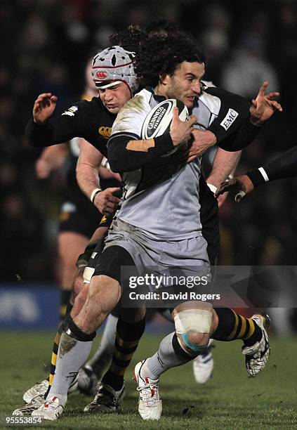
{"type": "Polygon", "coordinates": [[[247,176],[255,187],[268,181],[297,176],[297,146],[280,155],[271,163],[265,164],[259,169],[248,171],[247,176]]]}

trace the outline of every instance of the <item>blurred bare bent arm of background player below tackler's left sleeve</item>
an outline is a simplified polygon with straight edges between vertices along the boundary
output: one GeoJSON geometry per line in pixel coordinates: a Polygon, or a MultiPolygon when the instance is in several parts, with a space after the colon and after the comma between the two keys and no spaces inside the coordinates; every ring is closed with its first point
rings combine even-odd
{"type": "Polygon", "coordinates": [[[35,171],[37,178],[48,178],[51,171],[59,169],[65,162],[69,148],[67,143],[62,143],[57,146],[48,146],[45,148],[35,163],[35,171]]]}

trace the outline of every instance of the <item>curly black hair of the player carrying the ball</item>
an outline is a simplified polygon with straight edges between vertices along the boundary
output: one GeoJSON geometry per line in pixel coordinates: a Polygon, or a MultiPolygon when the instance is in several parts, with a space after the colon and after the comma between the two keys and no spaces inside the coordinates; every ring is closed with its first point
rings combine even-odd
{"type": "Polygon", "coordinates": [[[150,34],[136,53],[134,66],[140,87],[157,86],[159,77],[174,72],[183,61],[205,63],[197,42],[184,32],[150,34]]]}

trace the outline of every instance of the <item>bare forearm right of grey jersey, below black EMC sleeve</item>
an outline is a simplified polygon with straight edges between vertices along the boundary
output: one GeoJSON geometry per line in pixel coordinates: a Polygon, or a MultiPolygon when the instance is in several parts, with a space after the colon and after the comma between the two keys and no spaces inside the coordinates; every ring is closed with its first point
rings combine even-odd
{"type": "Polygon", "coordinates": [[[230,174],[234,173],[241,154],[242,151],[229,152],[218,148],[213,159],[213,168],[206,182],[218,188],[230,174]]]}

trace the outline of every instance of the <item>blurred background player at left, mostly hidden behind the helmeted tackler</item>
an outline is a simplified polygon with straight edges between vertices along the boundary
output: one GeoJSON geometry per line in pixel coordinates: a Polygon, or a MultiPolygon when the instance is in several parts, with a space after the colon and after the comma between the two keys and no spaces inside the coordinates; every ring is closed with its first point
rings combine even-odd
{"type": "MultiPolygon", "coordinates": [[[[91,79],[91,60],[89,60],[86,65],[86,86],[82,100],[90,101],[95,96],[98,96],[98,91],[93,79],[91,79]]],[[[79,138],[72,138],[69,143],[44,148],[35,164],[37,177],[44,179],[48,178],[51,171],[58,169],[62,164],[65,165],[67,159],[65,183],[62,185],[62,204],[57,240],[60,262],[61,320],[65,317],[67,304],[70,300],[77,256],[84,252],[91,235],[102,218],[102,215],[98,213],[98,210],[86,195],[81,192],[77,184],[76,166],[78,157],[79,138]]]]}

